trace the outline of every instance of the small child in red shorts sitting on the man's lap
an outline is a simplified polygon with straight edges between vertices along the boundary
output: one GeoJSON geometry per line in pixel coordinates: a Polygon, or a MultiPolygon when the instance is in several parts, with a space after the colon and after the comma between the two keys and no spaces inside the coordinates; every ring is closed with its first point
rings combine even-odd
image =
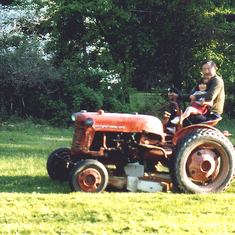
{"type": "MultiPolygon", "coordinates": [[[[199,80],[198,82],[198,90],[193,93],[193,95],[203,95],[206,93],[207,89],[207,80],[204,80],[203,78],[199,80]]],[[[205,101],[205,98],[200,98],[197,101],[194,101],[186,108],[184,113],[181,115],[181,122],[187,117],[189,117],[191,114],[201,114],[204,115],[208,111],[207,106],[212,106],[213,101],[205,101]]],[[[178,124],[179,123],[179,117],[175,117],[171,120],[171,123],[178,124]]]]}

